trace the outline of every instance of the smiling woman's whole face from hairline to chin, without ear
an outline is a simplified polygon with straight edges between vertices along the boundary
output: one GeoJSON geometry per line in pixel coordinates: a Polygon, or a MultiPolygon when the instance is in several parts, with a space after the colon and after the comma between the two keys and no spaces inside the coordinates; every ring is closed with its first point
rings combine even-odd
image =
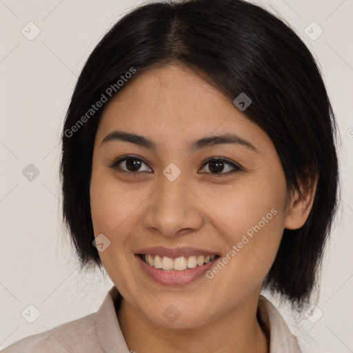
{"type": "Polygon", "coordinates": [[[268,135],[183,66],[145,72],[103,111],[90,184],[94,236],[110,279],[152,323],[197,327],[257,303],[285,198],[268,135]],[[103,141],[114,131],[152,143],[103,141]],[[232,142],[215,138],[225,134],[232,142]],[[139,254],[152,255],[153,267],[139,254]],[[216,258],[202,265],[207,256],[216,258]]]}

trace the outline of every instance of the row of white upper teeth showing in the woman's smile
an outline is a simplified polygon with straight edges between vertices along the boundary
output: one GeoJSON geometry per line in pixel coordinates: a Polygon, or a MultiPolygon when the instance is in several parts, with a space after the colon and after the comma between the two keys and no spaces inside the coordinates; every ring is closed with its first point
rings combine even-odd
{"type": "Polygon", "coordinates": [[[151,254],[139,254],[142,261],[150,265],[152,268],[159,270],[177,270],[184,271],[191,268],[203,266],[206,263],[210,263],[219,258],[219,255],[208,255],[208,256],[181,256],[172,259],[168,256],[158,256],[151,254]]]}

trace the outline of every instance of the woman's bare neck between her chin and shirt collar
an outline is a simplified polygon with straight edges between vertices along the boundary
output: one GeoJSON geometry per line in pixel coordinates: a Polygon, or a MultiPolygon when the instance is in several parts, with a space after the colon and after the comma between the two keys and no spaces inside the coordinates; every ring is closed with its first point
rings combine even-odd
{"type": "Polygon", "coordinates": [[[250,298],[211,322],[185,329],[156,325],[125,299],[117,316],[129,350],[139,353],[269,353],[269,339],[256,317],[258,298],[250,298]]]}

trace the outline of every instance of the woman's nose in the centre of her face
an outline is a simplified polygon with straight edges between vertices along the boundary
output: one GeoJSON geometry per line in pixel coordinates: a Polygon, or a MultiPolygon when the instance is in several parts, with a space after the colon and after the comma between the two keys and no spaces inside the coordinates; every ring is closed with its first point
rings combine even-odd
{"type": "Polygon", "coordinates": [[[199,230],[203,225],[203,203],[185,181],[183,172],[170,181],[161,181],[145,203],[143,225],[150,232],[176,237],[199,230]]]}

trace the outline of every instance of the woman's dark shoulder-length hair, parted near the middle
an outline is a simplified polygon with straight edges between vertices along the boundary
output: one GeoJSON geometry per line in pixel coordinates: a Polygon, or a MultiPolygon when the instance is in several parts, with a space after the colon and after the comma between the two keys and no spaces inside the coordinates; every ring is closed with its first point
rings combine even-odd
{"type": "MultiPolygon", "coordinates": [[[[136,73],[123,88],[145,70],[173,61],[201,72],[231,101],[241,92],[252,99],[245,114],[272,139],[288,186],[299,190],[301,181],[319,174],[305,225],[284,230],[264,283],[300,307],[312,292],[337,207],[336,123],[320,71],[303,41],[267,10],[241,0],[139,6],[120,19],[90,54],[62,134],[63,217],[81,265],[101,268],[92,245],[90,176],[103,108],[83,119],[74,132],[72,126],[130,68],[136,73]]],[[[118,93],[117,88],[114,94],[118,93]]]]}

